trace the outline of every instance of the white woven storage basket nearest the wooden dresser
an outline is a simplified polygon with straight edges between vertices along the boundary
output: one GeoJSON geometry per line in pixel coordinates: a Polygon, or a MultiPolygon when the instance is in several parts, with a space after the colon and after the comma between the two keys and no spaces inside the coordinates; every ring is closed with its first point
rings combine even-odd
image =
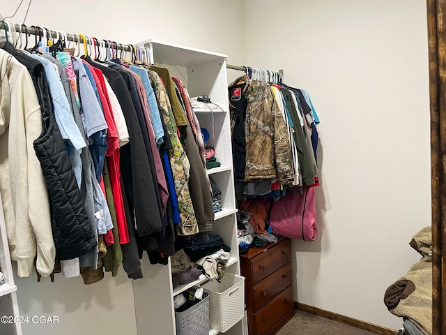
{"type": "Polygon", "coordinates": [[[245,278],[236,274],[224,274],[222,282],[205,281],[200,285],[210,295],[210,328],[226,332],[245,313],[245,278]]]}

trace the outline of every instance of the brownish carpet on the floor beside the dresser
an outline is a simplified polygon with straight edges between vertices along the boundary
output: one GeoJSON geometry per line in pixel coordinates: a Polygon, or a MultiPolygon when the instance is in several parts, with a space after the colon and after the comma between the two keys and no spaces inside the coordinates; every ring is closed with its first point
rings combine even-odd
{"type": "Polygon", "coordinates": [[[374,335],[375,333],[344,325],[321,316],[296,311],[277,335],[374,335]]]}

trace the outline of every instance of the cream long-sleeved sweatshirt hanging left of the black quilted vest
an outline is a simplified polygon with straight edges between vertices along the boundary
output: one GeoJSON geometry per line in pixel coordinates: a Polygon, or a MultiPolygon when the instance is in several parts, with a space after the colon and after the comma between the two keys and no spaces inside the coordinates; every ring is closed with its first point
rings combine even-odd
{"type": "Polygon", "coordinates": [[[49,198],[33,141],[42,133],[42,112],[26,67],[0,49],[0,193],[11,258],[20,277],[34,267],[54,269],[56,250],[49,198]]]}

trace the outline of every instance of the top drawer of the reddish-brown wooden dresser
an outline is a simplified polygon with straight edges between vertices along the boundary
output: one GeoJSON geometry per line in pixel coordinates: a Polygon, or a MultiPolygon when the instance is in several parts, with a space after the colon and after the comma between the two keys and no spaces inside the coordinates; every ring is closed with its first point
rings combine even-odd
{"type": "Polygon", "coordinates": [[[251,260],[252,285],[291,261],[291,241],[286,239],[271,248],[263,249],[263,253],[251,260]]]}

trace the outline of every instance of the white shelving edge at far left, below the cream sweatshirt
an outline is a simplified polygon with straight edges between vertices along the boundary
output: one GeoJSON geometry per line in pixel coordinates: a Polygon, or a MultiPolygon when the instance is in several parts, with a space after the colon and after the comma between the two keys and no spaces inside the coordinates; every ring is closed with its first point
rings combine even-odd
{"type": "MultiPolygon", "coordinates": [[[[17,302],[17,286],[14,283],[13,266],[6,236],[5,217],[1,206],[0,195],[0,271],[5,275],[5,281],[0,284],[0,316],[6,315],[13,318],[20,317],[19,304],[17,302]]],[[[22,335],[20,322],[4,324],[0,322],[0,334],[22,335]]]]}

